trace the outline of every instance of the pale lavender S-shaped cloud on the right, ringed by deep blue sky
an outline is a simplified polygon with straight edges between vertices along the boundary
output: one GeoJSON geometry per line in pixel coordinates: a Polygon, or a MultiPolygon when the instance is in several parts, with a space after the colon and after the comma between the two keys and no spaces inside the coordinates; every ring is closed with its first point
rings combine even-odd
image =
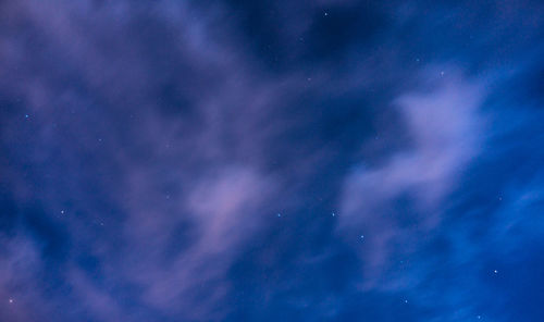
{"type": "MultiPolygon", "coordinates": [[[[428,73],[443,74],[440,69],[428,73]]],[[[431,78],[438,85],[393,102],[407,147],[375,166],[359,164],[345,179],[339,234],[364,235],[366,287],[387,288],[379,286],[383,275],[399,255],[417,249],[420,236],[434,233],[449,207],[445,197],[480,152],[485,128],[481,86],[455,72],[431,78]]]]}

